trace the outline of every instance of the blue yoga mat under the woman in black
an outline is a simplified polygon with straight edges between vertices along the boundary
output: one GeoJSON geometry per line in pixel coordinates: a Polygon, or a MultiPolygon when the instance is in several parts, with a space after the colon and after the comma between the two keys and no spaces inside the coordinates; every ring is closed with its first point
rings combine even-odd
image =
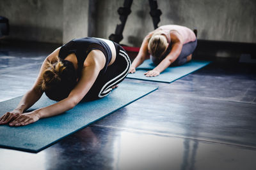
{"type": "MultiPolygon", "coordinates": [[[[47,146],[56,143],[79,129],[106,117],[110,113],[123,108],[150,92],[156,90],[154,85],[122,82],[119,87],[108,96],[97,101],[89,101],[77,104],[75,108],[55,117],[43,118],[23,127],[10,127],[0,125],[0,146],[26,152],[39,152],[47,146]]],[[[21,97],[3,101],[0,103],[0,116],[6,111],[11,111],[17,106],[21,97]]],[[[46,96],[31,108],[35,110],[40,107],[55,103],[46,96]]]]}

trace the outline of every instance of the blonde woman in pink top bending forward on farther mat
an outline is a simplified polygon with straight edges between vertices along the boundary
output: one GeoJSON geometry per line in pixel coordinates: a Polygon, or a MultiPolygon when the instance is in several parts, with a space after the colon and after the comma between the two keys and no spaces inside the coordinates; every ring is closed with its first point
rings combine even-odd
{"type": "Polygon", "coordinates": [[[135,73],[136,67],[150,56],[156,67],[147,71],[145,76],[158,76],[169,66],[181,66],[191,60],[196,44],[195,33],[188,27],[163,25],[143,39],[129,73],[135,73]]]}

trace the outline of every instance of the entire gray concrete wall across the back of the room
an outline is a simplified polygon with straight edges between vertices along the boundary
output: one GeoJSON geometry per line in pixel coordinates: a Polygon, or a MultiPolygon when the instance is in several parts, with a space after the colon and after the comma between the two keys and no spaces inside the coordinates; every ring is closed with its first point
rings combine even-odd
{"type": "MultiPolygon", "coordinates": [[[[12,39],[66,43],[84,36],[108,38],[119,24],[123,0],[0,0],[0,15],[10,20],[12,39]]],[[[198,29],[198,39],[256,43],[255,0],[159,0],[159,25],[198,29]]],[[[154,29],[148,0],[134,0],[127,19],[126,45],[139,46],[154,29]]]]}

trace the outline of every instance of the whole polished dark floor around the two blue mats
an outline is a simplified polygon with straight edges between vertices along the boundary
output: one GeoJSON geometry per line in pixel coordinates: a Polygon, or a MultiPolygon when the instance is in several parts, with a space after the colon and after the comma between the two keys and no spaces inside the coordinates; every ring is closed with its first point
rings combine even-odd
{"type": "MultiPolygon", "coordinates": [[[[2,43],[0,101],[24,94],[57,46],[2,43]]],[[[255,66],[217,59],[171,84],[125,81],[159,90],[39,153],[0,148],[0,169],[256,169],[255,66]]]]}

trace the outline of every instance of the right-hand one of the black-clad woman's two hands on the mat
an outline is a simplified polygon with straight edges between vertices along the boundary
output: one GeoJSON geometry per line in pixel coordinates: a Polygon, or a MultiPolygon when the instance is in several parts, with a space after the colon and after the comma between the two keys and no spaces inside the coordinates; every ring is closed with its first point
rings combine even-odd
{"type": "Polygon", "coordinates": [[[20,126],[20,125],[28,125],[39,120],[40,116],[35,112],[31,111],[29,113],[23,113],[19,115],[19,117],[15,118],[12,122],[10,122],[10,126],[20,126]]]}

